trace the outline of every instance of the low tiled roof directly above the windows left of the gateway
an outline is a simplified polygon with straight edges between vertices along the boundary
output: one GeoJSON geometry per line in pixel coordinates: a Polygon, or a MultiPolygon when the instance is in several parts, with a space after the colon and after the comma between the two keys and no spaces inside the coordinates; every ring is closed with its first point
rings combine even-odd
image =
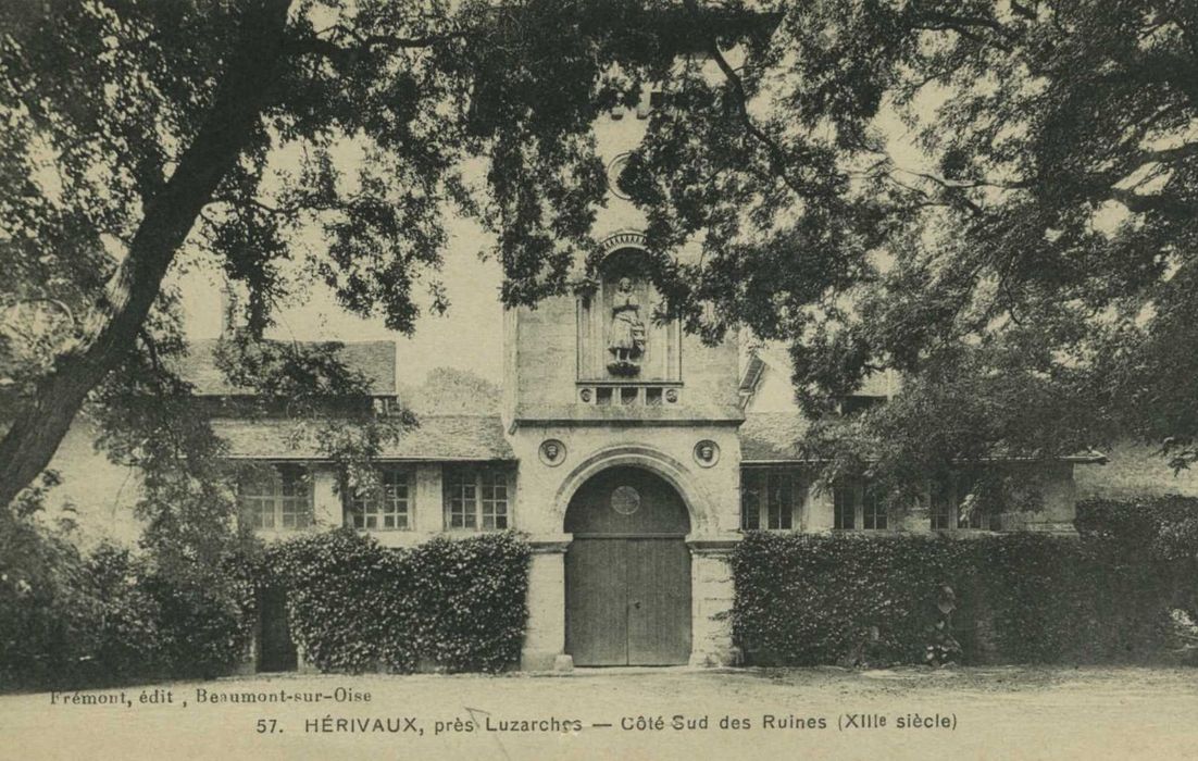
{"type": "MultiPolygon", "coordinates": [[[[426,415],[398,441],[383,446],[382,460],[514,460],[497,415],[426,415]]],[[[313,430],[294,419],[222,418],[213,430],[244,459],[323,459],[313,430]]]]}

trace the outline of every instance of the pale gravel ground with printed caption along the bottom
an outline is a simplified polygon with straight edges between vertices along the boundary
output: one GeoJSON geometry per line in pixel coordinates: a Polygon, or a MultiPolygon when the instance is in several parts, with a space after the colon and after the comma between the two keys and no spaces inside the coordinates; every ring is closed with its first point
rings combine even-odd
{"type": "Polygon", "coordinates": [[[447,756],[1198,759],[1198,670],[289,675],[0,696],[2,759],[447,756]]]}

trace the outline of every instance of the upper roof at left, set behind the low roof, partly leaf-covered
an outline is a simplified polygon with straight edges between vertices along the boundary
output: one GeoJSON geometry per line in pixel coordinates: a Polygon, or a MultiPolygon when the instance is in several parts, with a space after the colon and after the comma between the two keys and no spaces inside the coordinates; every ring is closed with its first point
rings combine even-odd
{"type": "MultiPolygon", "coordinates": [[[[201,397],[228,397],[252,393],[252,389],[231,385],[217,367],[218,339],[193,340],[188,354],[179,361],[180,376],[195,387],[201,397]]],[[[370,342],[301,342],[301,346],[329,346],[340,344],[338,357],[345,366],[365,375],[370,393],[375,397],[395,394],[395,344],[389,340],[370,342]]]]}

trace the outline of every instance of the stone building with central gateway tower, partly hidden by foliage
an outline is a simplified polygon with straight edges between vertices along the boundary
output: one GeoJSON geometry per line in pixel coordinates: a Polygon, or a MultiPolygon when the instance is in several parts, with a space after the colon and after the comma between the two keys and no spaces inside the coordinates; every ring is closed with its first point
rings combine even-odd
{"type": "MultiPolygon", "coordinates": [[[[1075,467],[1099,455],[1040,467],[1042,509],[986,526],[962,517],[963,484],[930,487],[926,500],[895,517],[861,483],[812,485],[810,463],[795,449],[806,422],[785,357],[745,351],[736,336],[704,345],[653,316],[658,298],[637,232],[645,221],[618,186],[653,102],[647,93],[595,125],[610,165],[609,203],[595,224],[601,277],[586,292],[506,312],[503,393],[494,409],[417,409],[419,428],[381,453],[381,489],[371,495],[339,494],[332,466],[285,418],[216,421],[232,457],[274,465],[277,478],[242,489],[244,518],[258,532],[279,538],[346,525],[388,546],[441,533],[524,532],[534,555],[521,665],[541,670],[736,663],[721,614],[733,600],[728,552],[746,530],[1071,531],[1075,467]]],[[[371,379],[380,409],[401,401],[393,344],[343,351],[371,379]]],[[[211,344],[192,348],[184,374],[200,394],[241,393],[216,370],[211,344]]],[[[841,401],[851,407],[896,392],[896,380],[882,375],[841,401]]],[[[134,487],[87,452],[90,437],[85,423],[77,425],[54,464],[67,475],[66,499],[83,509],[104,505],[91,518],[127,530],[117,506],[134,487]],[[97,499],[104,494],[111,499],[97,499]]],[[[264,620],[259,668],[294,663],[278,638],[286,639],[279,618],[264,620]]]]}

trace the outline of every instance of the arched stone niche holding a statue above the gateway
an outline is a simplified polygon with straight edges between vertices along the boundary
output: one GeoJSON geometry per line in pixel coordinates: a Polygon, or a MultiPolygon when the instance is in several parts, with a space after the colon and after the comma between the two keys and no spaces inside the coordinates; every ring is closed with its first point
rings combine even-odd
{"type": "Polygon", "coordinates": [[[655,319],[661,301],[645,252],[604,260],[599,286],[579,297],[579,383],[680,383],[682,330],[655,319]]]}

